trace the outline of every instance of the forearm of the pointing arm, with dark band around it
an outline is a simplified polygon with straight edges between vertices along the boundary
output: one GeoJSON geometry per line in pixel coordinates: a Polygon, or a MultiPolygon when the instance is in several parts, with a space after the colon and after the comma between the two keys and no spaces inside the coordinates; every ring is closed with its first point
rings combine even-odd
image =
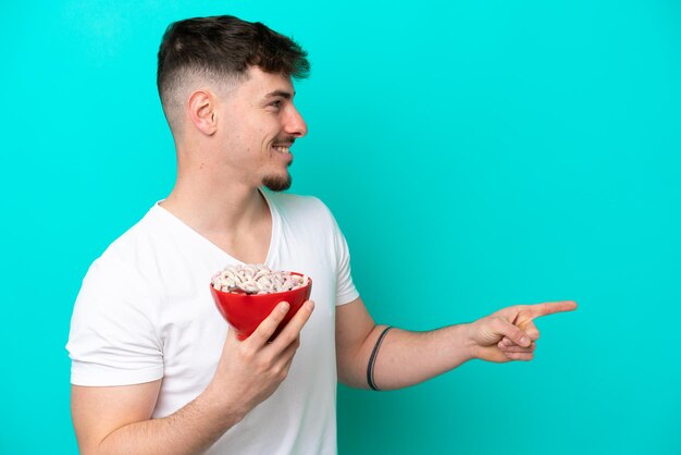
{"type": "MultiPolygon", "coordinates": [[[[468,324],[449,325],[430,332],[391,329],[385,335],[373,366],[373,382],[381,390],[400,389],[426,381],[474,358],[474,343],[468,336],[468,324]]],[[[385,325],[377,325],[362,348],[369,364],[385,325]]],[[[364,367],[363,384],[367,384],[364,367]]]]}

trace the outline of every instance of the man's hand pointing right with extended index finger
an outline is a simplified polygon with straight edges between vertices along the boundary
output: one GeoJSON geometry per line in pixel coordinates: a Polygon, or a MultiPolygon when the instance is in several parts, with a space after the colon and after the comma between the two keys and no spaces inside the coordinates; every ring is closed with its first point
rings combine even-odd
{"type": "Polygon", "coordinates": [[[532,360],[536,340],[540,337],[534,319],[556,312],[573,311],[572,300],[536,305],[516,305],[471,322],[469,337],[473,342],[473,355],[482,360],[506,362],[532,360]]]}

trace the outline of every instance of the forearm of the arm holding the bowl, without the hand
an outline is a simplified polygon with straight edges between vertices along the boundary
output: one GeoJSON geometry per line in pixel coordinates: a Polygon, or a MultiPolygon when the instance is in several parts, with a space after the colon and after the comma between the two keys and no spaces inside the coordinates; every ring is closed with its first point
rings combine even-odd
{"type": "MultiPolygon", "coordinates": [[[[225,414],[207,389],[196,399],[168,417],[129,423],[104,438],[95,454],[188,455],[206,452],[245,413],[225,414]]],[[[224,397],[222,397],[224,398],[224,397]]]]}

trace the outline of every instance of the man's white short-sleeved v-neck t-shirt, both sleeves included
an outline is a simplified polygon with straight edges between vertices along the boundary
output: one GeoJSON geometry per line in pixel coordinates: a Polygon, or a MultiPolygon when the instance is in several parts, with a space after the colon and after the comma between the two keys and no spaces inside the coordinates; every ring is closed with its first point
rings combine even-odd
{"type": "MultiPolygon", "coordinates": [[[[335,454],[335,306],[359,296],[348,247],[321,200],[261,193],[272,214],[265,265],[310,275],[315,308],[286,380],[209,453],[335,454]]],[[[153,418],[189,403],[211,381],[227,331],[210,280],[235,263],[154,205],[83,281],[66,345],[71,382],[124,385],[163,378],[153,418]]]]}

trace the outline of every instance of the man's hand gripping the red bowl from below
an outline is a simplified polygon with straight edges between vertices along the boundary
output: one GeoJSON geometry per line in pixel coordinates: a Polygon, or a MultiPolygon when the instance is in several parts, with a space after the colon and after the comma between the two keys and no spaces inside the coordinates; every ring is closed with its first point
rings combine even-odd
{"type": "Polygon", "coordinates": [[[245,341],[239,341],[233,330],[222,351],[218,369],[207,392],[213,395],[216,403],[228,403],[225,408],[249,413],[258,404],[274,393],[286,378],[300,345],[300,330],[310,318],[314,304],[306,302],[284,330],[268,341],[284,319],[289,305],[282,302],[258,329],[245,341]]]}

